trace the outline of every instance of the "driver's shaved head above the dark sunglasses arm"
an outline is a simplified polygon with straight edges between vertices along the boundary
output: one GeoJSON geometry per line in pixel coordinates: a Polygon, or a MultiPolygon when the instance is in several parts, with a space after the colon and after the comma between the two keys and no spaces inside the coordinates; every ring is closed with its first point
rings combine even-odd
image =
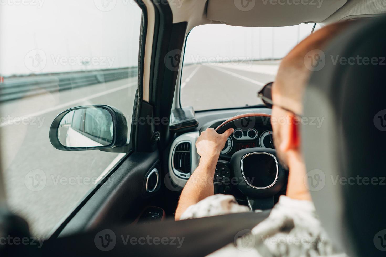
{"type": "Polygon", "coordinates": [[[346,29],[348,23],[338,22],[317,30],[283,58],[272,88],[272,96],[276,104],[295,113],[303,113],[302,98],[311,74],[310,67],[306,67],[308,63],[305,63],[305,60],[311,63],[312,58],[315,58],[315,53],[346,29]]]}

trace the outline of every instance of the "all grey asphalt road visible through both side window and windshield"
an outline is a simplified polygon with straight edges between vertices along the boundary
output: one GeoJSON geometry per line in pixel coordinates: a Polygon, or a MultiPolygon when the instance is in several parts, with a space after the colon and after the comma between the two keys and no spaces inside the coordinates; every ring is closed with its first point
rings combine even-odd
{"type": "MultiPolygon", "coordinates": [[[[196,110],[259,104],[256,92],[273,81],[276,68],[271,62],[252,67],[188,65],[183,70],[181,102],[196,110]]],[[[29,221],[35,235],[48,235],[122,157],[98,150],[55,149],[48,138],[52,120],[65,109],[89,104],[114,106],[130,119],[136,83],[130,78],[0,104],[8,203],[29,221]]]]}

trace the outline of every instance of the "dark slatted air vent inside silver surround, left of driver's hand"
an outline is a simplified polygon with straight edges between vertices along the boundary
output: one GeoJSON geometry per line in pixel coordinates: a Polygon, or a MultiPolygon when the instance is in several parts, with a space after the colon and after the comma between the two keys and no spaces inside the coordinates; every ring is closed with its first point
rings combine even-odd
{"type": "Polygon", "coordinates": [[[190,142],[181,142],[177,144],[173,154],[173,168],[176,174],[183,178],[188,178],[184,174],[191,172],[191,144],[190,142]]]}

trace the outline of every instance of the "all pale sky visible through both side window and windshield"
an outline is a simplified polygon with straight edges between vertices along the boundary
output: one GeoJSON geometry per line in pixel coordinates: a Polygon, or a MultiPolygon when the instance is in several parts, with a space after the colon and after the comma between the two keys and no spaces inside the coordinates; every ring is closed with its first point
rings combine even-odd
{"type": "MultiPolygon", "coordinates": [[[[1,0],[0,75],[136,66],[141,9],[131,0],[1,0]],[[18,3],[18,4],[17,4],[18,3]]],[[[312,24],[280,28],[194,28],[185,62],[196,57],[281,58],[312,24]]]]}

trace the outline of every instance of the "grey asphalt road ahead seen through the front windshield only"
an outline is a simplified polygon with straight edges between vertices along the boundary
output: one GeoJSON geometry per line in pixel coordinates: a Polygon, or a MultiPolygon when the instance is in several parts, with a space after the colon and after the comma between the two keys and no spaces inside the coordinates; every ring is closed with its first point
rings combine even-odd
{"type": "Polygon", "coordinates": [[[181,79],[181,105],[193,106],[198,111],[261,104],[257,92],[262,86],[274,80],[277,68],[275,64],[262,66],[264,73],[256,72],[259,71],[259,65],[186,66],[181,79]],[[272,69],[269,66],[273,66],[272,69]]]}

